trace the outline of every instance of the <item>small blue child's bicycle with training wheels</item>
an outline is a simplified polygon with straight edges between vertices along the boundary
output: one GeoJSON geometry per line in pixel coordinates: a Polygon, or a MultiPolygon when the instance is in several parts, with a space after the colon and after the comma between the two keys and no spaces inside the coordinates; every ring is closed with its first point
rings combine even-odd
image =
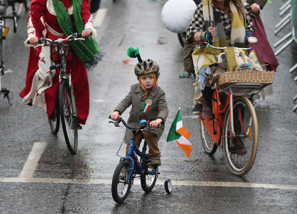
{"type": "MultiPolygon", "coordinates": [[[[120,156],[120,163],[114,170],[114,175],[112,178],[111,194],[114,201],[117,203],[123,203],[124,200],[126,200],[134,179],[140,178],[141,187],[145,192],[150,192],[153,189],[156,180],[161,181],[158,179],[158,174],[160,174],[158,172],[158,167],[151,166],[150,158],[147,154],[145,154],[147,143],[144,141],[142,152],[140,152],[140,150],[135,145],[135,135],[137,130],[141,130],[144,132],[156,130],[150,128],[149,121],[146,120],[140,121],[141,126],[139,128],[128,126],[121,117],[118,117],[118,120],[116,122],[109,121],[109,123],[114,123],[114,126],[122,127],[121,125],[119,125],[120,122],[122,122],[126,128],[131,129],[133,135],[130,140],[130,146],[127,156],[120,156]],[[136,155],[140,156],[140,160],[138,160],[136,155]]],[[[171,181],[168,179],[161,182],[164,182],[166,192],[170,193],[172,191],[171,181]]]]}

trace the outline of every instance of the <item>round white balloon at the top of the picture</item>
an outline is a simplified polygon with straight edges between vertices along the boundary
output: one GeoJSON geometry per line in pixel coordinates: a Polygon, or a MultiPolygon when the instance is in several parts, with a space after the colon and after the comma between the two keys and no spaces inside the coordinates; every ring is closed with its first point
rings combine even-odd
{"type": "Polygon", "coordinates": [[[169,0],[162,8],[162,23],[171,32],[186,32],[196,8],[193,0],[169,0]]]}

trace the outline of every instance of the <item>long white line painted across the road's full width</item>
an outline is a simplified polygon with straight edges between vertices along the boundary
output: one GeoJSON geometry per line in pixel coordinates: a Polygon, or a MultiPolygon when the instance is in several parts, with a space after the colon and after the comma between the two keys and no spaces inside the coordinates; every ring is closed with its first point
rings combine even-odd
{"type": "MultiPolygon", "coordinates": [[[[111,184],[111,179],[63,179],[63,178],[5,178],[0,177],[0,182],[21,183],[73,183],[73,184],[111,184]]],[[[269,184],[269,183],[242,183],[242,182],[212,182],[212,181],[171,181],[175,186],[211,186],[211,187],[250,187],[297,190],[297,185],[269,184]]],[[[140,180],[134,180],[133,185],[140,185],[140,180]]],[[[164,185],[157,181],[156,185],[164,185]]]]}

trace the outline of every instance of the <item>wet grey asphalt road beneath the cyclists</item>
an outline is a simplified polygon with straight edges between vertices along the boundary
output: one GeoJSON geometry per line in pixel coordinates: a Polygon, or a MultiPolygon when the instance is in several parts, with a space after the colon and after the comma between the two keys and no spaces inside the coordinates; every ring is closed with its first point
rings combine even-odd
{"type": "MultiPolygon", "coordinates": [[[[76,155],[68,151],[62,129],[51,134],[46,113],[37,107],[23,106],[19,92],[25,84],[29,49],[24,47],[27,15],[18,22],[18,31],[6,39],[6,69],[2,87],[14,94],[9,106],[0,99],[0,212],[1,213],[296,213],[297,158],[295,154],[297,122],[292,101],[297,93],[294,77],[288,70],[296,63],[297,45],[288,46],[278,56],[273,94],[256,107],[259,123],[259,145],[250,172],[232,175],[225,162],[222,147],[209,157],[200,140],[198,117],[192,114],[194,89],[188,79],[178,79],[183,67],[183,48],[176,33],[161,22],[164,0],[118,0],[101,2],[107,8],[98,31],[98,44],[106,52],[95,71],[89,72],[90,113],[87,124],[79,131],[76,155]],[[179,107],[183,125],[192,134],[191,157],[175,142],[169,142],[162,156],[160,179],[183,181],[167,195],[163,185],[145,194],[135,184],[123,204],[111,196],[110,179],[118,164],[116,156],[123,130],[109,124],[107,116],[136,83],[136,59],[127,56],[128,47],[140,48],[142,58],[151,58],[160,66],[159,85],[166,92],[169,116],[159,140],[162,151],[167,133],[179,107]],[[46,142],[31,182],[18,182],[35,142],[46,142]],[[11,178],[4,182],[3,178],[11,178]],[[39,179],[42,178],[42,179],[39,179]],[[46,182],[45,178],[49,179],[46,182]],[[61,178],[52,183],[50,179],[61,178]],[[34,180],[35,179],[35,180],[34,180]],[[39,180],[38,180],[39,179],[39,180]],[[69,183],[67,179],[74,179],[69,183]],[[34,181],[34,182],[32,182],[34,181]],[[188,184],[192,185],[185,185],[188,184]],[[195,183],[196,182],[196,183],[195,183]],[[239,182],[286,185],[237,187],[207,186],[199,182],[239,182]]],[[[274,26],[281,17],[278,8],[283,1],[273,1],[261,11],[271,44],[291,30],[286,26],[277,35],[274,26]]],[[[96,14],[94,14],[96,16],[96,14]]],[[[275,51],[277,48],[273,48],[275,51]]],[[[127,120],[129,109],[123,113],[127,120]]],[[[120,154],[124,154],[123,148],[120,154]]]]}

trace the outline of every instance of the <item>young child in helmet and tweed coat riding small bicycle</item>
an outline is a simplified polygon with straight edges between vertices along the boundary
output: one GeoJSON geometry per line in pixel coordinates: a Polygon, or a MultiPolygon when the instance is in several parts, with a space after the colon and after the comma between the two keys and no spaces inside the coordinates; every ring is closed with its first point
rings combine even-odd
{"type": "MultiPolygon", "coordinates": [[[[152,166],[160,166],[160,150],[158,148],[158,140],[160,139],[164,128],[165,120],[168,116],[168,107],[165,99],[165,92],[158,86],[158,77],[160,75],[159,66],[157,62],[147,59],[139,62],[134,68],[135,75],[139,80],[131,86],[129,94],[118,104],[114,113],[110,115],[110,118],[114,121],[120,116],[131,104],[132,108],[130,116],[127,121],[129,126],[139,126],[140,120],[149,120],[150,127],[156,128],[155,131],[142,132],[138,131],[135,136],[135,144],[139,148],[142,139],[147,142],[149,146],[149,157],[151,159],[152,166]],[[157,126],[161,124],[161,128],[157,126]]],[[[125,136],[130,130],[126,129],[125,136]]],[[[127,141],[130,141],[132,132],[127,137],[127,141]]],[[[126,155],[129,148],[129,143],[126,141],[126,155]]]]}

